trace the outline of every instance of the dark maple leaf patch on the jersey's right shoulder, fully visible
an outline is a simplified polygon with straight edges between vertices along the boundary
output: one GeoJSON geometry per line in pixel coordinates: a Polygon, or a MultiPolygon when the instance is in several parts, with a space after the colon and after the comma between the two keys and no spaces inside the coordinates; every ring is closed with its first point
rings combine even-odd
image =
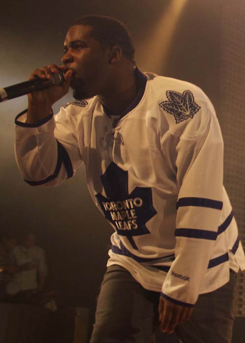
{"type": "Polygon", "coordinates": [[[176,124],[193,118],[201,108],[195,102],[191,91],[184,91],[183,94],[176,91],[167,91],[166,96],[168,101],[161,102],[159,106],[174,116],[176,124]]]}

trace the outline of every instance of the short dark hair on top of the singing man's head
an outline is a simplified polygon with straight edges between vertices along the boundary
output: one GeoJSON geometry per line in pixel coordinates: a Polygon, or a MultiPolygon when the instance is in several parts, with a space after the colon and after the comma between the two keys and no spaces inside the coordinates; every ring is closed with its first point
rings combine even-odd
{"type": "Polygon", "coordinates": [[[88,25],[93,27],[91,35],[102,48],[119,46],[123,55],[134,62],[134,46],[128,29],[119,20],[106,16],[88,15],[77,19],[74,25],[88,25]]]}

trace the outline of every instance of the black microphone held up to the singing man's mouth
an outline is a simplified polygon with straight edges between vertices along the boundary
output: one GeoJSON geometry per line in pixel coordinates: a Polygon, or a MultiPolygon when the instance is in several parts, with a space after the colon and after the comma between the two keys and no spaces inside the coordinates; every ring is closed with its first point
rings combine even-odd
{"type": "Polygon", "coordinates": [[[63,72],[52,74],[52,79],[37,78],[31,81],[17,83],[16,85],[0,88],[0,102],[21,97],[35,91],[41,91],[52,86],[59,86],[64,81],[63,72]]]}

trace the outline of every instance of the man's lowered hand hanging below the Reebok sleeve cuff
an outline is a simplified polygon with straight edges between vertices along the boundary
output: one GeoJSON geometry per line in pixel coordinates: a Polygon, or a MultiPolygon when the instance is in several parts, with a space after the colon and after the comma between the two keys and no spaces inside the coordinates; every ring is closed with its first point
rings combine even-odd
{"type": "Polygon", "coordinates": [[[190,319],[193,308],[177,305],[160,296],[158,312],[161,331],[172,334],[178,323],[190,319]]]}

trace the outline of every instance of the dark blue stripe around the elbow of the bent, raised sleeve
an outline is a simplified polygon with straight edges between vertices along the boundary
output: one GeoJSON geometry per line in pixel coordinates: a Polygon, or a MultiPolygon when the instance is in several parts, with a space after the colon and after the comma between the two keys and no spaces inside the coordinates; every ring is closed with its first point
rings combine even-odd
{"type": "Polygon", "coordinates": [[[60,144],[60,142],[58,142],[57,140],[56,140],[56,142],[57,142],[58,157],[57,157],[57,163],[56,163],[54,173],[52,175],[49,175],[48,177],[46,177],[44,180],[40,180],[40,181],[25,180],[25,182],[27,182],[29,185],[40,186],[40,185],[43,185],[43,184],[55,179],[60,172],[62,162],[64,163],[64,166],[66,168],[67,177],[69,178],[69,177],[73,176],[73,167],[72,167],[72,162],[71,162],[71,159],[69,157],[69,154],[66,151],[66,149],[62,146],[62,144],[60,144]]]}

